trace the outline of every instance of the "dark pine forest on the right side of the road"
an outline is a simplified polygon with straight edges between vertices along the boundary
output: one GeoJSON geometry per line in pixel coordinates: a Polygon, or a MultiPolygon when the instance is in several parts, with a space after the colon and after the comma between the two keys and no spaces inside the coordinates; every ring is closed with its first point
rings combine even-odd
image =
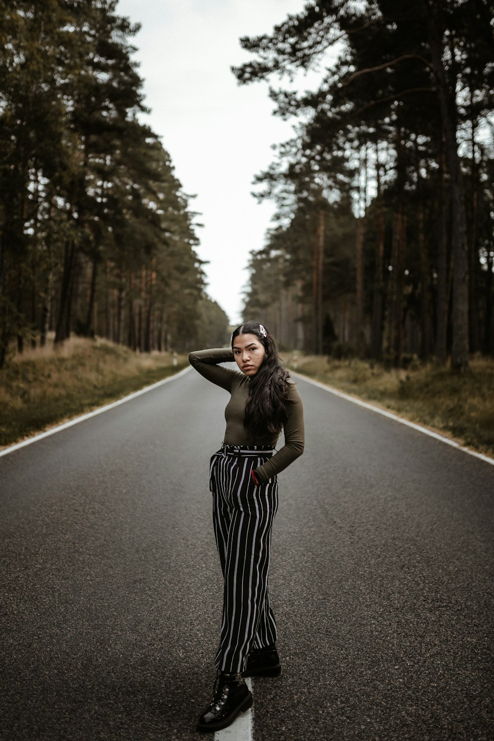
{"type": "Polygon", "coordinates": [[[493,10],[317,0],[241,39],[238,82],[294,122],[256,176],[276,218],[245,298],[281,345],[459,373],[494,354],[493,10]]]}

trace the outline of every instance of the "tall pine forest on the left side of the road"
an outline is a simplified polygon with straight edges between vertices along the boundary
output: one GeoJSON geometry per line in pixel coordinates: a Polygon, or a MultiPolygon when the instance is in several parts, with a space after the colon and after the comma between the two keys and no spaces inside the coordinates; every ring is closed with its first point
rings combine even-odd
{"type": "Polygon", "coordinates": [[[224,341],[117,4],[0,0],[0,368],[49,333],[141,352],[224,341]]]}

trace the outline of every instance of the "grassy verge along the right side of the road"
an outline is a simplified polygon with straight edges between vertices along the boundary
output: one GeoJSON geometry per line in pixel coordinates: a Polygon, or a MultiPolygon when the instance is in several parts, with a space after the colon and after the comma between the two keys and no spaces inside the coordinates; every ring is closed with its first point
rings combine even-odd
{"type": "MultiPolygon", "coordinates": [[[[293,368],[292,357],[285,356],[287,366],[293,368]]],[[[321,356],[298,356],[296,365],[298,373],[494,457],[493,359],[472,359],[464,376],[435,365],[386,371],[362,360],[321,356]]]]}

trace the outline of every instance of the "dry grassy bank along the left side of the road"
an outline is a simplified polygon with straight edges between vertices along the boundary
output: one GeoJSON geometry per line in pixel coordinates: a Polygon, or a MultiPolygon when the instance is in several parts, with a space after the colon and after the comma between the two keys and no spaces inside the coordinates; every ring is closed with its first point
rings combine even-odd
{"type": "Polygon", "coordinates": [[[187,359],[139,355],[101,339],[27,350],[0,371],[0,448],[180,371],[187,359]]]}

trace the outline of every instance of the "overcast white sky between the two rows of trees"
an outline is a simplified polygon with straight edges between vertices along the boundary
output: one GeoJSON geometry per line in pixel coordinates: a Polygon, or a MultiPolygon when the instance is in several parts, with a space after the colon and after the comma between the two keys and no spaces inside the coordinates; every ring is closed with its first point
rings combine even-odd
{"type": "MultiPolygon", "coordinates": [[[[250,196],[252,180],[273,160],[270,145],[291,125],[272,115],[267,83],[239,87],[230,65],[252,56],[240,36],[270,33],[305,0],[120,0],[118,12],[141,23],[147,122],[160,136],[191,208],[201,212],[198,254],[208,260],[207,292],[241,322],[250,250],[264,244],[274,205],[250,196]]],[[[276,84],[276,80],[273,81],[276,84]]],[[[303,87],[309,87],[303,82],[303,87]]]]}

